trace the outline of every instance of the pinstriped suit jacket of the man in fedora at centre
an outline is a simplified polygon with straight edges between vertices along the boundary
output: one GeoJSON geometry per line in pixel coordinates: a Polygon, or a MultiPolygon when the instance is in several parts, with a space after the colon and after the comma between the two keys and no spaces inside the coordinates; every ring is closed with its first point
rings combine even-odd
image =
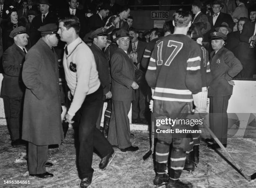
{"type": "Polygon", "coordinates": [[[131,88],[135,80],[134,65],[127,53],[121,48],[115,50],[110,60],[112,78],[112,99],[118,101],[134,100],[134,90],[131,88]]]}

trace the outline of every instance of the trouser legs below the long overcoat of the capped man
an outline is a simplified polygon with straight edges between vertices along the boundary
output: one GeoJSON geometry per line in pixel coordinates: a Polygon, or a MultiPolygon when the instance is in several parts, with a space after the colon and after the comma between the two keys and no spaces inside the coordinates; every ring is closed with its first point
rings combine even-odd
{"type": "Polygon", "coordinates": [[[28,173],[42,174],[46,172],[48,145],[34,145],[28,143],[28,173]]]}

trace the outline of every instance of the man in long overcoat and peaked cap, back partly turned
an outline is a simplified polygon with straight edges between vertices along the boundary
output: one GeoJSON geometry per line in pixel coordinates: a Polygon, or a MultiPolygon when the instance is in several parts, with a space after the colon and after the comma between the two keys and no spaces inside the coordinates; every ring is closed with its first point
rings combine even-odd
{"type": "Polygon", "coordinates": [[[63,140],[59,94],[56,24],[38,31],[42,38],[27,53],[22,79],[26,85],[22,139],[28,141],[28,172],[38,178],[52,177],[46,172],[48,145],[63,140]]]}

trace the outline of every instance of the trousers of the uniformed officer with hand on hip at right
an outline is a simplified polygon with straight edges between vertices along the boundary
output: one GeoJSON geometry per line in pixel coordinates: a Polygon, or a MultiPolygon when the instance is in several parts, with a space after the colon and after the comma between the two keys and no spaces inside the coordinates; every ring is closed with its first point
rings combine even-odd
{"type": "Polygon", "coordinates": [[[228,100],[229,96],[210,97],[210,129],[222,144],[227,144],[228,135],[228,100]]]}

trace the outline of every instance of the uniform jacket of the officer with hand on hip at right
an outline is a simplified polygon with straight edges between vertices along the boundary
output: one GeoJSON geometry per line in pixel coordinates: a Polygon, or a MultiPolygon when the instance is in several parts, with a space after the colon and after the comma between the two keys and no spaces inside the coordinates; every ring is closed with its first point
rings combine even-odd
{"type": "Polygon", "coordinates": [[[226,48],[221,48],[215,55],[210,55],[212,81],[208,90],[210,97],[232,95],[233,86],[228,83],[243,69],[241,62],[226,48]]]}

